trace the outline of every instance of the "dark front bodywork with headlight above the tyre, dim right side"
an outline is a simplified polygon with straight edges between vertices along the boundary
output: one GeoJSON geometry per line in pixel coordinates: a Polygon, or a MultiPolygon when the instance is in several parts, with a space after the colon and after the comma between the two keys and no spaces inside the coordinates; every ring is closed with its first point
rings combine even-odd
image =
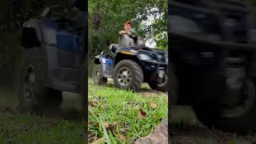
{"type": "Polygon", "coordinates": [[[210,0],[174,1],[170,6],[170,62],[178,71],[178,104],[193,103],[191,94],[207,74],[228,78],[228,70],[240,67],[255,76],[256,25],[250,5],[210,0]]]}

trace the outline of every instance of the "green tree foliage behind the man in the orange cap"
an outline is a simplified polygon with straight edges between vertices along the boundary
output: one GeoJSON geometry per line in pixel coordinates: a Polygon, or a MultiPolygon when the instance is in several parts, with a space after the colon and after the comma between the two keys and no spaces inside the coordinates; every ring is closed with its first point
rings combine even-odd
{"type": "MultiPolygon", "coordinates": [[[[127,20],[133,21],[133,27],[143,38],[154,29],[155,40],[167,41],[167,37],[157,36],[167,31],[167,6],[166,0],[90,0],[88,11],[90,55],[107,49],[107,44],[117,43],[118,31],[123,29],[123,23],[127,20]],[[147,16],[151,14],[154,15],[154,24],[146,26],[142,22],[148,20],[147,16]]],[[[159,46],[161,44],[158,43],[159,46]]]]}

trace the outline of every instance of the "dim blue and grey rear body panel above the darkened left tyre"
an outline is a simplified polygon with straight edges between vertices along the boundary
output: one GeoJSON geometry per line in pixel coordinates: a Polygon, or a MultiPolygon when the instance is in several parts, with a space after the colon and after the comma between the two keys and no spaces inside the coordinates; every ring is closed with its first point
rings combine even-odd
{"type": "MultiPolygon", "coordinates": [[[[56,90],[79,92],[79,70],[84,58],[82,39],[78,31],[68,31],[58,26],[54,20],[30,19],[23,25],[23,32],[34,30],[36,35],[23,34],[24,41],[36,37],[40,49],[46,55],[46,83],[45,86],[56,90]],[[27,37],[27,40],[26,40],[27,37]]],[[[31,33],[32,34],[32,33],[31,33]]],[[[25,49],[33,46],[22,46],[25,49]]]]}

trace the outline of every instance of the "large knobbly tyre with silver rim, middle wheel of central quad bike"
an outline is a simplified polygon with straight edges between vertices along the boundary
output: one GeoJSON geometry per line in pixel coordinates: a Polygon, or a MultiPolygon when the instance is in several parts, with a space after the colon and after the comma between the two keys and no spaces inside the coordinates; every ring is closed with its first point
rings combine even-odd
{"type": "Polygon", "coordinates": [[[132,60],[122,60],[114,67],[114,85],[120,89],[137,91],[144,75],[141,66],[132,60]]]}

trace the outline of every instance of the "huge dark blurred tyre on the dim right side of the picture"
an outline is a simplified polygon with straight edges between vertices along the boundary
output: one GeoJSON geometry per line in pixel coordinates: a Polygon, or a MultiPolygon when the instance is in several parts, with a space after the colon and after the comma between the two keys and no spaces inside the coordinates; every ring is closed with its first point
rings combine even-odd
{"type": "Polygon", "coordinates": [[[256,128],[255,80],[245,78],[239,93],[238,91],[228,93],[223,82],[223,78],[214,76],[203,81],[203,87],[198,94],[199,97],[194,102],[194,112],[199,121],[209,128],[214,127],[238,134],[247,134],[256,128]],[[234,94],[243,94],[240,95],[242,97],[239,97],[240,100],[237,104],[234,106],[224,104],[225,99],[223,97],[226,96],[226,100],[232,102],[232,99],[235,98],[234,94]]]}

